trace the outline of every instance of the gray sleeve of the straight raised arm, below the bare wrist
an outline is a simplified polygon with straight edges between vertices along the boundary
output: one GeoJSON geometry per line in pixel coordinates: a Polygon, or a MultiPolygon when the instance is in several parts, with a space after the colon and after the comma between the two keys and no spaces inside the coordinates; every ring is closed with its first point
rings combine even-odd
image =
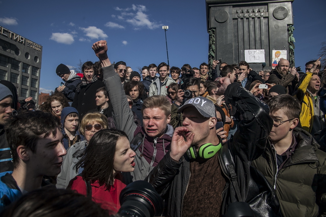
{"type": "Polygon", "coordinates": [[[114,71],[113,65],[103,67],[102,71],[105,89],[112,103],[112,114],[115,126],[118,130],[124,131],[131,142],[137,125],[134,123],[134,116],[129,108],[120,77],[114,71]]]}

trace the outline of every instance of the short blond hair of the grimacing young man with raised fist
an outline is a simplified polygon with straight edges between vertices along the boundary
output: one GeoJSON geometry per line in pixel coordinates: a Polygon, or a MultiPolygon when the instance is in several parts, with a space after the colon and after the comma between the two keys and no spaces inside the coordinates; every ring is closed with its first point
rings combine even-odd
{"type": "Polygon", "coordinates": [[[171,104],[166,96],[155,95],[146,98],[141,108],[142,114],[144,113],[145,108],[159,108],[164,111],[167,117],[171,114],[171,104]]]}

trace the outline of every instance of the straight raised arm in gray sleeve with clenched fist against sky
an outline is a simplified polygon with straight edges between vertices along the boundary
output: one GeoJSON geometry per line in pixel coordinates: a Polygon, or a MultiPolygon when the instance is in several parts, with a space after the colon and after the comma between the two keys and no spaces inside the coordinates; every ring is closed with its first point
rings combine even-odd
{"type": "Polygon", "coordinates": [[[100,60],[102,71],[103,71],[103,82],[105,89],[109,94],[110,101],[113,108],[113,120],[118,130],[126,132],[129,141],[134,137],[134,132],[137,125],[134,123],[134,116],[129,108],[127,97],[119,75],[114,71],[113,65],[111,64],[107,51],[106,41],[97,41],[93,44],[93,50],[96,56],[100,60]]]}

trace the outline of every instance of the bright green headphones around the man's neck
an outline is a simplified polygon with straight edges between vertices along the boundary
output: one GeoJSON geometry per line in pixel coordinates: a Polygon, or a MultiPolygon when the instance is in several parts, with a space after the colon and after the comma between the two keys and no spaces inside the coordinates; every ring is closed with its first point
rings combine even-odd
{"type": "MultiPolygon", "coordinates": [[[[220,150],[221,147],[221,142],[218,145],[213,145],[212,143],[203,144],[199,148],[199,156],[205,159],[211,158],[220,150]]],[[[198,157],[196,147],[193,145],[190,146],[190,148],[187,150],[187,155],[190,159],[196,159],[198,157]]]]}

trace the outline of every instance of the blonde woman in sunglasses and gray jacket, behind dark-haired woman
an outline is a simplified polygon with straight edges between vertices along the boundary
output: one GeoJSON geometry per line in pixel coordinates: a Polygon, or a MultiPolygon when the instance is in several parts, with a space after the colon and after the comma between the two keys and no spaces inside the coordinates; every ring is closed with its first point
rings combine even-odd
{"type": "Polygon", "coordinates": [[[81,122],[80,133],[84,135],[85,140],[77,142],[73,146],[67,149],[67,154],[63,157],[61,165],[61,172],[57,177],[57,188],[67,188],[67,185],[71,179],[79,174],[73,167],[79,161],[78,153],[84,152],[85,147],[89,144],[94,134],[101,130],[108,128],[108,119],[104,114],[99,112],[87,113],[81,122]]]}

